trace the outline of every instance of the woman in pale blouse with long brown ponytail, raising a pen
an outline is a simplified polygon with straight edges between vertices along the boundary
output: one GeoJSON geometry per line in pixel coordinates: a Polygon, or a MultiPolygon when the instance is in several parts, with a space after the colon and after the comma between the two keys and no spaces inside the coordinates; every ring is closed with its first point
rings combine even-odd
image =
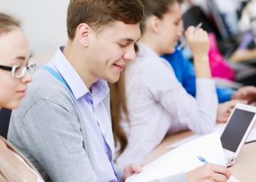
{"type": "Polygon", "coordinates": [[[110,85],[119,166],[143,162],[168,133],[186,129],[207,133],[216,124],[218,100],[208,63],[206,31],[190,27],[185,33],[197,78],[193,98],[178,82],[170,64],[160,58],[174,52],[182,36],[181,8],[174,0],[148,0],[143,5],[138,57],[129,63],[123,78],[110,85]]]}

